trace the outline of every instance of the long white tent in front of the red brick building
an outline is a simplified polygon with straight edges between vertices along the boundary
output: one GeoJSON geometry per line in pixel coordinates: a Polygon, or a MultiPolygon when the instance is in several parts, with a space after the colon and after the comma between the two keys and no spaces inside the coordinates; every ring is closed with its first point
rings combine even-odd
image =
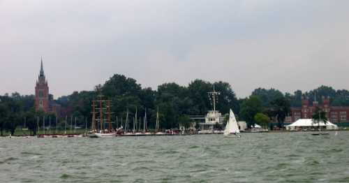
{"type": "Polygon", "coordinates": [[[327,121],[326,124],[324,122],[320,122],[319,124],[316,122],[313,122],[313,119],[298,119],[296,122],[287,125],[287,130],[295,130],[295,129],[309,129],[314,128],[317,126],[321,126],[322,128],[325,126],[326,129],[334,130],[338,129],[338,126],[336,124],[332,124],[331,122],[327,121]]]}

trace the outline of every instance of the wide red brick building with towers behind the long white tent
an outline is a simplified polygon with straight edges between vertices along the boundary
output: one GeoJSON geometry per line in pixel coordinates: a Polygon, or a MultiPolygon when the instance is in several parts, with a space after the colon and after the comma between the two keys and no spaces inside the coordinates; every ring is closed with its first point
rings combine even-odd
{"type": "Polygon", "coordinates": [[[322,96],[322,103],[319,104],[314,98],[313,103],[309,103],[309,98],[302,98],[302,107],[291,108],[291,116],[286,122],[295,122],[297,119],[311,119],[316,108],[326,112],[327,119],[332,123],[348,123],[349,107],[331,106],[329,97],[322,96]]]}

